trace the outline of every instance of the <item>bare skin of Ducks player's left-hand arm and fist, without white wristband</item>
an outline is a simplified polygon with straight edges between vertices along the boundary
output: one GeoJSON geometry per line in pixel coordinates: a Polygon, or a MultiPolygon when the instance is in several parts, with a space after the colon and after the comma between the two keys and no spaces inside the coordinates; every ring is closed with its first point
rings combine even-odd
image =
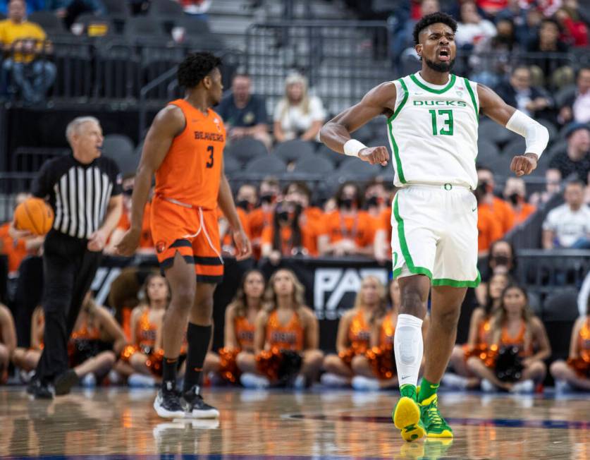
{"type": "MultiPolygon", "coordinates": [[[[391,115],[397,97],[395,84],[381,83],[367,92],[358,103],[340,112],[320,130],[319,138],[332,150],[344,153],[344,145],[365,123],[381,114],[391,115]]],[[[371,164],[386,162],[389,154],[385,146],[367,147],[359,151],[359,158],[371,164]]]]}

